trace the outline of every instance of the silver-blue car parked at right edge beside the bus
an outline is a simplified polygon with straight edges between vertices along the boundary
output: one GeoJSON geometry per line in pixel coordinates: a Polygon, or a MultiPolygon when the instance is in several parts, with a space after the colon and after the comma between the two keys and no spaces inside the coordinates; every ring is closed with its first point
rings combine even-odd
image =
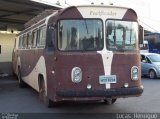
{"type": "Polygon", "coordinates": [[[160,77],[160,55],[155,53],[141,53],[142,76],[154,79],[160,77]]]}

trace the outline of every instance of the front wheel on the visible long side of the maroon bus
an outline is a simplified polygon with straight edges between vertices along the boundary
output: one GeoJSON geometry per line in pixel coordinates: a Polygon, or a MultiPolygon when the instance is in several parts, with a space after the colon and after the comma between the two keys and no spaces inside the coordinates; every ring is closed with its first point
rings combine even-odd
{"type": "Polygon", "coordinates": [[[39,99],[47,106],[53,107],[53,102],[47,97],[44,79],[39,80],[39,99]]]}

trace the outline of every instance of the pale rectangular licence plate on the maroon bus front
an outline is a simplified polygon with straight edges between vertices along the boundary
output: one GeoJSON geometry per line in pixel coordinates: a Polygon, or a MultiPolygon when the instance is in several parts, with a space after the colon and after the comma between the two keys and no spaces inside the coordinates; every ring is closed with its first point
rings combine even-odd
{"type": "Polygon", "coordinates": [[[116,75],[101,75],[99,76],[99,83],[100,84],[117,83],[116,75]]]}

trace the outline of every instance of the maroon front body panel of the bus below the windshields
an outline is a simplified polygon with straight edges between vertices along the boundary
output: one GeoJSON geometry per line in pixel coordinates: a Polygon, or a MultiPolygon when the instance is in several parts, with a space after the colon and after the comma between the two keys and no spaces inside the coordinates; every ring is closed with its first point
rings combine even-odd
{"type": "MultiPolygon", "coordinates": [[[[141,82],[132,81],[130,76],[131,68],[133,66],[138,66],[140,68],[140,64],[137,63],[137,60],[139,59],[139,55],[114,54],[113,57],[114,58],[112,61],[110,75],[117,76],[117,83],[109,84],[110,86],[106,87],[106,85],[108,84],[99,83],[99,76],[105,75],[104,66],[102,63],[102,57],[99,54],[96,54],[96,53],[84,54],[84,55],[61,54],[60,56],[57,56],[56,65],[60,66],[61,64],[61,67],[58,67],[57,69],[55,69],[55,75],[57,79],[56,82],[58,82],[57,94],[59,96],[64,96],[63,99],[65,99],[68,97],[76,97],[76,95],[77,97],[85,97],[84,96],[85,94],[81,94],[81,93],[87,92],[90,90],[106,91],[108,89],[124,89],[125,83],[129,84],[129,88],[140,87],[141,82]],[[130,59],[132,59],[133,62],[130,62],[130,59]],[[64,62],[64,60],[67,62],[67,64],[64,62]],[[68,63],[68,61],[70,63],[68,63]],[[80,67],[82,69],[82,81],[78,84],[73,83],[71,80],[71,71],[74,67],[80,67]],[[92,88],[87,89],[87,85],[91,85],[92,88]],[[74,94],[76,91],[81,93],[74,94]]],[[[86,94],[86,97],[94,97],[94,95],[95,94],[92,94],[92,95],[86,94]]],[[[98,97],[98,94],[97,94],[97,97],[98,97]]],[[[105,98],[105,95],[103,95],[103,97],[105,98]]],[[[113,96],[113,97],[116,97],[116,96],[113,96]]]]}

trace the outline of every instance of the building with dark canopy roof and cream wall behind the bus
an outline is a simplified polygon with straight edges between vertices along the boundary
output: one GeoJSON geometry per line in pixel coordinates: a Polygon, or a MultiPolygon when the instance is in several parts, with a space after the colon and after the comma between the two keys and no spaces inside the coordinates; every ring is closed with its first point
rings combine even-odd
{"type": "Polygon", "coordinates": [[[31,0],[1,0],[0,8],[0,76],[6,76],[12,75],[12,51],[16,34],[24,29],[26,22],[42,11],[57,10],[61,6],[31,0]]]}

